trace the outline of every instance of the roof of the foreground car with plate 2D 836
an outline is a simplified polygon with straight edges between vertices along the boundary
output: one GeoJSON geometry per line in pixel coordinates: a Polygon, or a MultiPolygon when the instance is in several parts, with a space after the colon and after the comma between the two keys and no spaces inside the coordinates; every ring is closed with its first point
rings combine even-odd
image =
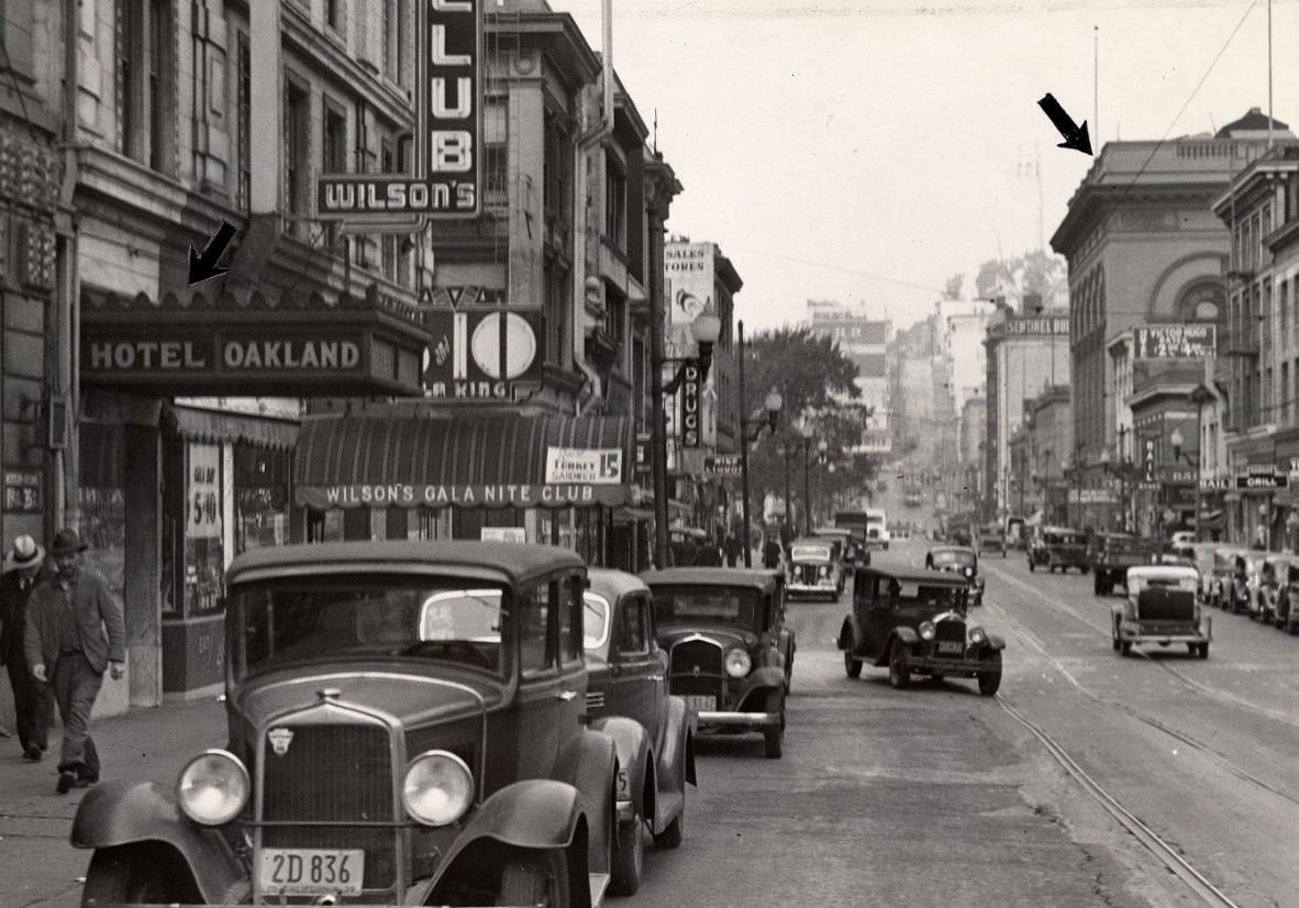
{"type": "Polygon", "coordinates": [[[244,552],[226,568],[226,582],[266,579],[284,574],[410,570],[423,574],[495,574],[521,583],[555,569],[585,568],[569,548],[508,542],[329,542],[268,546],[244,552]]]}

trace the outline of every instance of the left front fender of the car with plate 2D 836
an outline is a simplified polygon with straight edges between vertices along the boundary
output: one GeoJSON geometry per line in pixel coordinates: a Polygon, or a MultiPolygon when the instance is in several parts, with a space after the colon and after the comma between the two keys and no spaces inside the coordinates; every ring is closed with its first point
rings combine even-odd
{"type": "Polygon", "coordinates": [[[157,842],[181,855],[207,903],[242,902],[248,874],[221,831],[190,821],[157,782],[105,782],[86,792],[73,818],[74,848],[157,842]]]}

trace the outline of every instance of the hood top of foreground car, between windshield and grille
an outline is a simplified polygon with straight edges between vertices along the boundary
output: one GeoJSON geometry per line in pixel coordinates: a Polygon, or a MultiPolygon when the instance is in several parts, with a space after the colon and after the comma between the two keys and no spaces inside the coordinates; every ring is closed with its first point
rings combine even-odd
{"type": "Polygon", "coordinates": [[[505,698],[503,685],[483,678],[436,677],[400,669],[365,673],[313,673],[268,678],[242,690],[231,708],[246,722],[261,726],[284,713],[329,703],[379,713],[405,727],[448,722],[479,714],[505,698]]]}

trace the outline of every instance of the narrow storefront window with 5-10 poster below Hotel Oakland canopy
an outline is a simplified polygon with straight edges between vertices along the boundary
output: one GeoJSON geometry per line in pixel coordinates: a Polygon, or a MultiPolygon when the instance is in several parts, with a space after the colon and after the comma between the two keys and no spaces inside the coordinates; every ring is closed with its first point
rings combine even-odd
{"type": "Polygon", "coordinates": [[[213,612],[225,577],[221,508],[221,446],[186,447],[184,612],[213,612]]]}

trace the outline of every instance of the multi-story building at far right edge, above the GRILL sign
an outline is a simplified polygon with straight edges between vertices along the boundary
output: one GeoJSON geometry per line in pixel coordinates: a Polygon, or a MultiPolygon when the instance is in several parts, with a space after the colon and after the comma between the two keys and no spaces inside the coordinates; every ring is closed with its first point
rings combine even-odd
{"type": "MultiPolygon", "coordinates": [[[[1222,427],[1233,539],[1299,544],[1299,145],[1283,143],[1213,201],[1230,231],[1222,427]]],[[[1221,374],[1221,373],[1220,373],[1221,374]]],[[[1202,435],[1202,444],[1204,436],[1202,435]]]]}

